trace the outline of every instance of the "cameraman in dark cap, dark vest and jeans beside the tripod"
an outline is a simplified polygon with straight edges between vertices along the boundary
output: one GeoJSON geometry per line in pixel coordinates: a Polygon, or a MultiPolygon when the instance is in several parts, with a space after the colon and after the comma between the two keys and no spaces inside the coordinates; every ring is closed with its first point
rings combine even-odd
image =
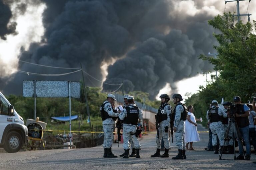
{"type": "MultiPolygon", "coordinates": [[[[236,117],[237,126],[239,128],[239,132],[241,137],[243,137],[245,147],[246,147],[246,157],[244,159],[244,153],[243,153],[243,144],[241,140],[238,140],[238,146],[239,146],[239,156],[237,156],[236,159],[238,160],[250,160],[251,159],[251,146],[249,142],[249,118],[250,115],[249,110],[250,108],[244,104],[241,104],[241,98],[239,96],[235,96],[233,98],[235,107],[236,107],[236,113],[234,116],[236,117]]],[[[232,106],[232,105],[231,105],[232,106]]],[[[229,117],[231,116],[232,110],[228,112],[229,117]]]]}

